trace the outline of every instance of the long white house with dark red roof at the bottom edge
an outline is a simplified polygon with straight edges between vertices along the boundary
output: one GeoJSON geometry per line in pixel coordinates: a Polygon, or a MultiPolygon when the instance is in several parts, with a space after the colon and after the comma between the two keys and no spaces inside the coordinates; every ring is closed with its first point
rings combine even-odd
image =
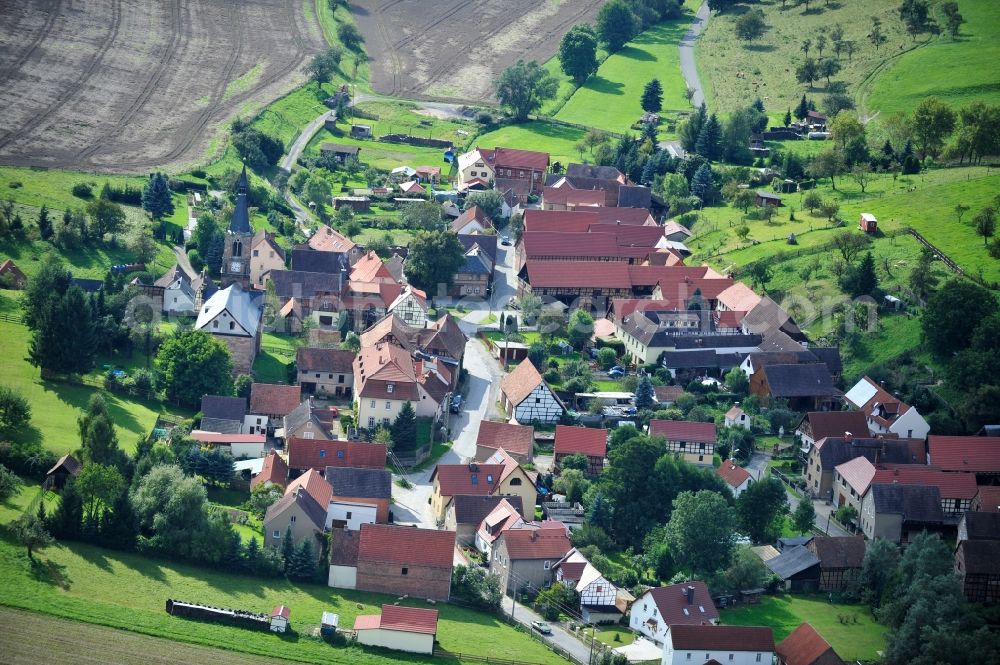
{"type": "Polygon", "coordinates": [[[761,626],[671,626],[663,643],[663,665],[715,660],[732,665],[770,665],[774,634],[761,626]]]}

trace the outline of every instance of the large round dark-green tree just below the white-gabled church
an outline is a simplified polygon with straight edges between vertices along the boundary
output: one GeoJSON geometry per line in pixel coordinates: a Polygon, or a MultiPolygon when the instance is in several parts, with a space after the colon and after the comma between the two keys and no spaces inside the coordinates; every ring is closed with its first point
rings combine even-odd
{"type": "Polygon", "coordinates": [[[202,395],[228,395],[233,361],[225,344],[200,330],[178,330],[156,354],[167,399],[195,407],[202,395]]]}

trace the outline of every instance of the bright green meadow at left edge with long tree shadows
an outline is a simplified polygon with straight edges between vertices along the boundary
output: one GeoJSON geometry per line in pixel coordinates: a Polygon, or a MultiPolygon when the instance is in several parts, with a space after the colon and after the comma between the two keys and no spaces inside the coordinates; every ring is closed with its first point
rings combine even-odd
{"type": "MultiPolygon", "coordinates": [[[[0,312],[18,313],[16,297],[16,292],[0,291],[0,312]]],[[[30,331],[22,325],[0,321],[0,339],[0,377],[4,385],[18,390],[31,403],[31,424],[11,437],[15,440],[40,441],[58,455],[75,450],[80,445],[77,416],[86,408],[90,396],[101,392],[111,411],[119,445],[131,451],[139,437],[152,430],[157,414],[166,411],[157,402],[134,401],[87,386],[43,381],[38,368],[26,360],[30,331]]]]}

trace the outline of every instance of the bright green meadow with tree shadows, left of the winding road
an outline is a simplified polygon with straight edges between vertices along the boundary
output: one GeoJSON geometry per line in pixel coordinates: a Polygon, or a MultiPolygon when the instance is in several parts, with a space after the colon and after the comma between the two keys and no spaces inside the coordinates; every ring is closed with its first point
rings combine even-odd
{"type": "Polygon", "coordinates": [[[660,23],[608,56],[555,117],[627,132],[642,115],[642,90],[654,78],[663,85],[664,112],[690,110],[677,48],[690,23],[690,17],[660,23]]]}

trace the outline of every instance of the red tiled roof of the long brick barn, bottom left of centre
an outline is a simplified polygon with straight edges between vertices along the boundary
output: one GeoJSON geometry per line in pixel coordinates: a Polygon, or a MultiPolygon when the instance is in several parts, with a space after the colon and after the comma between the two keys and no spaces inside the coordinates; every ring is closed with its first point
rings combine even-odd
{"type": "Polygon", "coordinates": [[[362,524],[359,561],[451,569],[455,532],[393,524],[362,524]]]}

